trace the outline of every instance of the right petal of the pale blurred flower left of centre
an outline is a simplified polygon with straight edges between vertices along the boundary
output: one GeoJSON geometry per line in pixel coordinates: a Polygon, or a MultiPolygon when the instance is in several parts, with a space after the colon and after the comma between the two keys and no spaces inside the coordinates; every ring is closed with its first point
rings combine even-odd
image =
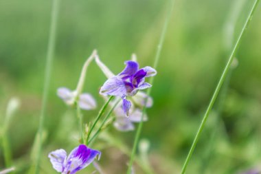
{"type": "Polygon", "coordinates": [[[79,106],[84,110],[91,110],[96,108],[96,101],[91,94],[81,94],[79,98],[79,106]]]}

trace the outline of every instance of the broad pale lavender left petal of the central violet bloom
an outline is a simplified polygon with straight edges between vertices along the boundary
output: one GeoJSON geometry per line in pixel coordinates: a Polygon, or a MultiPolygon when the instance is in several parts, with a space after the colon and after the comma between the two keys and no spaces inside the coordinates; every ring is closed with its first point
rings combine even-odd
{"type": "Polygon", "coordinates": [[[110,96],[126,95],[126,87],[124,81],[118,76],[109,78],[100,89],[100,94],[110,96]]]}

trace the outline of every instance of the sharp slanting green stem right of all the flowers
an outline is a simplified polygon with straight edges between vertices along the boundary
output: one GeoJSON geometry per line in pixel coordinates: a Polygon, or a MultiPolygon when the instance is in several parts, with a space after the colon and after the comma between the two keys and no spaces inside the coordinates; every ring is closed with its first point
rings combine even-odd
{"type": "Polygon", "coordinates": [[[190,162],[190,158],[192,157],[192,153],[193,153],[193,151],[194,151],[194,149],[195,149],[195,147],[196,147],[196,143],[198,142],[198,138],[200,137],[201,132],[202,132],[202,130],[203,130],[203,127],[205,126],[205,122],[207,121],[207,118],[208,118],[208,116],[209,116],[209,112],[211,111],[212,106],[214,105],[214,102],[215,102],[215,100],[216,100],[216,97],[218,96],[218,92],[219,92],[221,86],[223,85],[223,81],[225,80],[225,77],[227,76],[227,72],[229,71],[229,67],[230,67],[230,65],[231,65],[231,63],[232,63],[232,61],[233,61],[233,59],[234,59],[234,55],[235,55],[235,53],[236,53],[236,50],[238,49],[238,45],[239,45],[239,43],[240,43],[240,41],[241,41],[241,39],[242,39],[242,35],[243,35],[243,34],[245,33],[245,31],[247,30],[247,27],[248,27],[248,25],[249,25],[249,23],[250,23],[250,21],[251,21],[251,19],[252,19],[252,17],[253,17],[253,13],[255,12],[255,10],[256,10],[256,8],[257,8],[257,6],[258,6],[259,1],[260,1],[260,0],[256,0],[255,3],[253,3],[253,7],[251,8],[251,11],[250,11],[250,13],[249,13],[249,16],[247,17],[247,21],[245,22],[245,25],[244,25],[244,27],[242,28],[242,31],[240,32],[240,35],[239,35],[239,37],[238,37],[238,40],[236,41],[236,44],[234,45],[234,49],[233,49],[232,52],[231,52],[231,55],[230,55],[229,60],[228,60],[228,62],[227,62],[227,65],[225,66],[225,69],[224,69],[224,71],[223,71],[223,74],[222,74],[222,76],[220,77],[220,80],[218,81],[218,85],[216,86],[216,89],[215,89],[215,91],[214,91],[214,94],[213,94],[213,96],[212,96],[212,98],[211,98],[211,100],[210,100],[210,102],[209,102],[209,105],[208,105],[208,107],[207,107],[207,110],[206,110],[206,112],[205,112],[205,115],[204,115],[204,117],[203,117],[203,120],[202,120],[202,122],[201,122],[201,125],[200,125],[200,127],[198,128],[198,132],[196,133],[196,136],[195,136],[194,141],[193,141],[193,143],[192,143],[192,146],[191,146],[191,148],[190,148],[190,152],[188,153],[188,156],[187,156],[187,158],[186,158],[186,160],[185,160],[185,163],[183,164],[183,168],[182,168],[182,171],[181,171],[182,174],[185,173],[185,170],[186,170],[186,168],[187,168],[187,166],[188,166],[188,162],[190,162]]]}

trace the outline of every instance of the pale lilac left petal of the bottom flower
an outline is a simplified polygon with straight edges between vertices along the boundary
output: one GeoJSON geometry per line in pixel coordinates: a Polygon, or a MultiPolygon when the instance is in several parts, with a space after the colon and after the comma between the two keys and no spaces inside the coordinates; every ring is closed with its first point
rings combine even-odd
{"type": "Polygon", "coordinates": [[[58,172],[63,172],[65,169],[65,160],[67,153],[63,149],[58,149],[49,153],[48,157],[53,165],[53,168],[58,172]]]}

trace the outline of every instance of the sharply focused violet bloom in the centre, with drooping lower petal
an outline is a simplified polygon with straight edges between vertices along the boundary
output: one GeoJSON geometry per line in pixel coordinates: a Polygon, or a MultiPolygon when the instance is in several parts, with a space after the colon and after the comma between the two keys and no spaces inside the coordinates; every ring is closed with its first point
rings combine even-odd
{"type": "Polygon", "coordinates": [[[139,64],[135,61],[126,61],[125,64],[126,67],[120,74],[106,80],[100,94],[120,96],[124,115],[129,116],[131,102],[126,100],[126,96],[135,96],[139,89],[151,87],[149,83],[145,83],[145,78],[155,76],[157,72],[152,67],[139,69],[139,64]]]}

